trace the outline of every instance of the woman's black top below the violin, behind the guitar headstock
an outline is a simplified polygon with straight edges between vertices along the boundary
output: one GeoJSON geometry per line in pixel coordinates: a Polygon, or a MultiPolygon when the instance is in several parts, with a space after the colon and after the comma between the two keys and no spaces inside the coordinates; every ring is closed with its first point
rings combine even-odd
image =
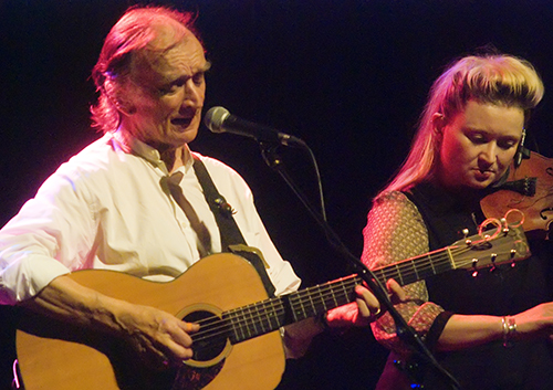
{"type": "MultiPolygon", "coordinates": [[[[469,199],[430,183],[416,186],[407,196],[422,215],[430,250],[462,239],[463,229],[476,234],[484,220],[478,197],[469,199]]],[[[551,243],[530,241],[530,247],[533,255],[515,266],[503,264],[476,276],[457,270],[428,278],[429,301],[456,314],[494,316],[515,315],[551,301],[551,243]]],[[[436,357],[462,389],[553,389],[552,351],[544,339],[515,341],[512,347],[498,340],[436,357]]],[[[431,372],[425,378],[425,388],[445,388],[431,372]]]]}

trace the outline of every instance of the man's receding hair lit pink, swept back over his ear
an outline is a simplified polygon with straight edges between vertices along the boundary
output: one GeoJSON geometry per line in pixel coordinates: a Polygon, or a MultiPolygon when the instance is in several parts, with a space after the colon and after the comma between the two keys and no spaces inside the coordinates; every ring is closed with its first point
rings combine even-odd
{"type": "Polygon", "coordinates": [[[166,7],[131,8],[107,34],[92,78],[100,92],[97,104],[91,107],[93,126],[104,133],[114,131],[119,125],[121,87],[127,81],[136,54],[147,50],[156,39],[155,25],[176,21],[198,36],[192,25],[192,14],[166,7]]]}

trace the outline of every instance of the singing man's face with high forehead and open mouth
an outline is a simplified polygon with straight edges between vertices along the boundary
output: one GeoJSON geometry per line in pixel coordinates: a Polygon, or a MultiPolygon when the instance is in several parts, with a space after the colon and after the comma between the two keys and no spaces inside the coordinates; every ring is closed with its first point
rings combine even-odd
{"type": "Polygon", "coordinates": [[[206,94],[204,48],[189,32],[177,39],[173,29],[161,28],[153,43],[169,49],[135,61],[133,85],[125,88],[134,110],[124,115],[124,128],[155,148],[177,148],[196,138],[206,94]]]}

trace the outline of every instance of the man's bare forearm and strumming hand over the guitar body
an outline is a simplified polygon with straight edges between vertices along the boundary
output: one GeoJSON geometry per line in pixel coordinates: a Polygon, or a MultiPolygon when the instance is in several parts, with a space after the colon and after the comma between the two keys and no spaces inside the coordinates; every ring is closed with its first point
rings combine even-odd
{"type": "Polygon", "coordinates": [[[149,306],[134,305],[85,287],[67,276],[53,280],[22,306],[45,316],[125,339],[152,368],[192,357],[190,334],[199,325],[149,306]]]}

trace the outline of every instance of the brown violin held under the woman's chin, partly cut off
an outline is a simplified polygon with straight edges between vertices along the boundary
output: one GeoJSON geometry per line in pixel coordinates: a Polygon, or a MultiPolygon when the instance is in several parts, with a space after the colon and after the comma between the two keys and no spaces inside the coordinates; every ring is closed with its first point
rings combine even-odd
{"type": "Polygon", "coordinates": [[[549,232],[553,222],[553,159],[528,150],[519,167],[511,166],[507,182],[500,190],[480,201],[487,218],[501,218],[509,210],[520,210],[524,215],[525,232],[549,232]]]}

